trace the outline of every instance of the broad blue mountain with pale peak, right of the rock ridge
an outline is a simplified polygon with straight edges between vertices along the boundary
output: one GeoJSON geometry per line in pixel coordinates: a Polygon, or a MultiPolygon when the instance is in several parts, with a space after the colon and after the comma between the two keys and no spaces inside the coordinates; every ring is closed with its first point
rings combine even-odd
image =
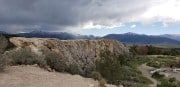
{"type": "Polygon", "coordinates": [[[126,44],[180,44],[180,41],[167,37],[135,33],[109,34],[103,38],[118,40],[126,44]]]}

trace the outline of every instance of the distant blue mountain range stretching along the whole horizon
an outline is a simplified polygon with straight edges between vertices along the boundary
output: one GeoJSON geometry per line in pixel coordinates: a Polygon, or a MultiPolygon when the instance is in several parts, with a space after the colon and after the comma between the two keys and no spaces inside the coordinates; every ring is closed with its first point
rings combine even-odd
{"type": "MultiPolygon", "coordinates": [[[[6,32],[0,32],[7,34],[6,32]]],[[[124,34],[108,34],[103,37],[97,37],[93,35],[80,35],[71,34],[66,32],[44,32],[44,31],[32,31],[29,33],[18,33],[17,36],[21,37],[37,37],[37,38],[58,38],[61,40],[72,40],[72,39],[114,39],[125,44],[167,44],[167,45],[179,45],[180,35],[164,34],[164,35],[145,35],[136,33],[124,33],[124,34]]]]}

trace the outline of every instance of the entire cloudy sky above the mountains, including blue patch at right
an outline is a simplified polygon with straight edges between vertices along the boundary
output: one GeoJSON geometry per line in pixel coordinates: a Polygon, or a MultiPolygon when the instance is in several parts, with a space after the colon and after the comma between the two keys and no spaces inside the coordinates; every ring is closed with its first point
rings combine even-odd
{"type": "Polygon", "coordinates": [[[180,34],[180,0],[0,0],[0,31],[180,34]]]}

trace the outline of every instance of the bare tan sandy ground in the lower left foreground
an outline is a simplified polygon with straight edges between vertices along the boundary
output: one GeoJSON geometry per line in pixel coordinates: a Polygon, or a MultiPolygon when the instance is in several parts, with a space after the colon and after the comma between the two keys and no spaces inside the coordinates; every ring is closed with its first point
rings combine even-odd
{"type": "Polygon", "coordinates": [[[11,66],[0,73],[0,87],[92,87],[93,84],[97,87],[98,82],[36,66],[11,66]]]}

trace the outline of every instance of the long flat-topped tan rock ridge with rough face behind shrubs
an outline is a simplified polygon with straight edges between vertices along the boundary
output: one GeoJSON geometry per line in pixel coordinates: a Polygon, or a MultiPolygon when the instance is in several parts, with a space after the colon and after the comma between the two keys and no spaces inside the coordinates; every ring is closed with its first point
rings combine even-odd
{"type": "Polygon", "coordinates": [[[50,38],[13,37],[10,42],[18,48],[31,48],[32,52],[42,55],[48,51],[62,55],[67,64],[77,65],[81,71],[95,66],[101,51],[115,54],[128,53],[128,49],[115,40],[59,40],[50,38]]]}

